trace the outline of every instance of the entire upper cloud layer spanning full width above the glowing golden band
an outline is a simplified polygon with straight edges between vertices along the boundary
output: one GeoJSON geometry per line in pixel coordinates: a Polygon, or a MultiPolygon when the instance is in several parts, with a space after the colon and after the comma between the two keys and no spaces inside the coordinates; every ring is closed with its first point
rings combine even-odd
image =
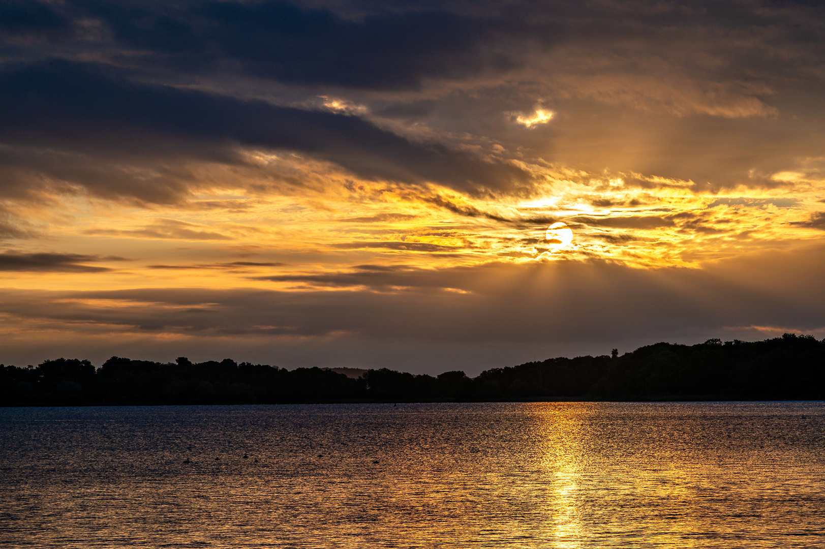
{"type": "Polygon", "coordinates": [[[795,112],[804,103],[797,91],[818,97],[821,83],[809,67],[821,64],[822,52],[804,36],[816,35],[820,8],[634,6],[7,3],[13,54],[3,64],[0,99],[19,105],[7,107],[19,116],[0,109],[2,140],[14,145],[0,154],[3,192],[50,182],[179,202],[208,184],[189,164],[243,164],[238,147],[295,150],[360,177],[463,192],[532,182],[516,163],[459,150],[464,141],[498,140],[518,151],[512,158],[593,171],[615,164],[713,188],[764,186],[777,183],[748,177],[752,168],[788,167],[780,150],[754,152],[764,150],[767,135],[818,150],[771,113],[795,112]],[[31,39],[43,33],[48,46],[31,39]],[[333,92],[384,115],[374,124],[236,97],[307,105],[307,97],[333,92]],[[529,110],[537,100],[558,116],[554,128],[526,132],[535,135],[514,135],[512,124],[489,114],[529,110]],[[430,108],[416,110],[424,103],[430,108]],[[648,111],[681,121],[665,116],[653,127],[648,111]],[[753,116],[761,121],[719,121],[753,116]]]}

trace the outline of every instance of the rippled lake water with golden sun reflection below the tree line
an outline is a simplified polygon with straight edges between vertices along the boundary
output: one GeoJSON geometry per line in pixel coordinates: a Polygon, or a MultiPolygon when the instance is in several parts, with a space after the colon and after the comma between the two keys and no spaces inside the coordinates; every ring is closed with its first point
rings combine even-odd
{"type": "Polygon", "coordinates": [[[4,547],[825,547],[823,403],[6,408],[0,436],[4,547]]]}

